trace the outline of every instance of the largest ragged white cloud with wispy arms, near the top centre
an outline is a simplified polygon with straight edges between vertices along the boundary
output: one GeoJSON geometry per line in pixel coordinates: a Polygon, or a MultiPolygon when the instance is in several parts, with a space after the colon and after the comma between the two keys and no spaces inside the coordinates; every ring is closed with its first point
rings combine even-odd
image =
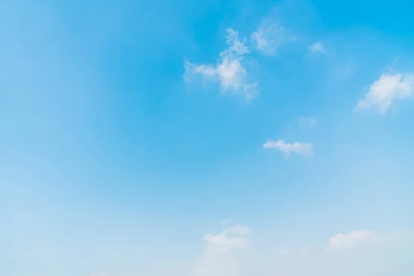
{"type": "Polygon", "coordinates": [[[220,52],[219,62],[211,65],[185,61],[184,80],[190,81],[194,75],[202,75],[207,79],[218,79],[224,94],[242,95],[246,101],[250,101],[257,96],[258,83],[257,81],[248,82],[246,68],[242,64],[244,55],[249,52],[245,45],[246,39],[239,40],[238,33],[231,28],[226,31],[228,48],[220,52]]]}

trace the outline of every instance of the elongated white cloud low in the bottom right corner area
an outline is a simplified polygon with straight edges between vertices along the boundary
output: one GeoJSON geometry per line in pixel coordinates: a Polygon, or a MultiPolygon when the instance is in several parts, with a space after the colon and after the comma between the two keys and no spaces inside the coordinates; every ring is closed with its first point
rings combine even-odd
{"type": "Polygon", "coordinates": [[[354,230],[348,234],[337,234],[331,237],[326,252],[334,253],[344,248],[353,248],[372,235],[373,232],[369,230],[354,230]]]}

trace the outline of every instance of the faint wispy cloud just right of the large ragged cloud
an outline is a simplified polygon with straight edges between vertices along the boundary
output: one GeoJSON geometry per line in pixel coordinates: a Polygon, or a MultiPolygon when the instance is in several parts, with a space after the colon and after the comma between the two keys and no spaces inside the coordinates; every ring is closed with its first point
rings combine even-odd
{"type": "Polygon", "coordinates": [[[287,34],[283,26],[270,21],[264,21],[262,26],[251,35],[253,45],[265,55],[275,55],[286,39],[287,34]]]}

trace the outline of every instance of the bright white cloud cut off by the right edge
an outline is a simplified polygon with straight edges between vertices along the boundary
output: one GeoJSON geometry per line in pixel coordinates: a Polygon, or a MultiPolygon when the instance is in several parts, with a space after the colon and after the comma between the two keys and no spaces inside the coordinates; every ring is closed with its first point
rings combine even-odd
{"type": "Polygon", "coordinates": [[[383,74],[371,85],[364,99],[358,102],[357,108],[375,107],[380,113],[384,113],[396,99],[408,99],[413,94],[414,75],[383,74]]]}

